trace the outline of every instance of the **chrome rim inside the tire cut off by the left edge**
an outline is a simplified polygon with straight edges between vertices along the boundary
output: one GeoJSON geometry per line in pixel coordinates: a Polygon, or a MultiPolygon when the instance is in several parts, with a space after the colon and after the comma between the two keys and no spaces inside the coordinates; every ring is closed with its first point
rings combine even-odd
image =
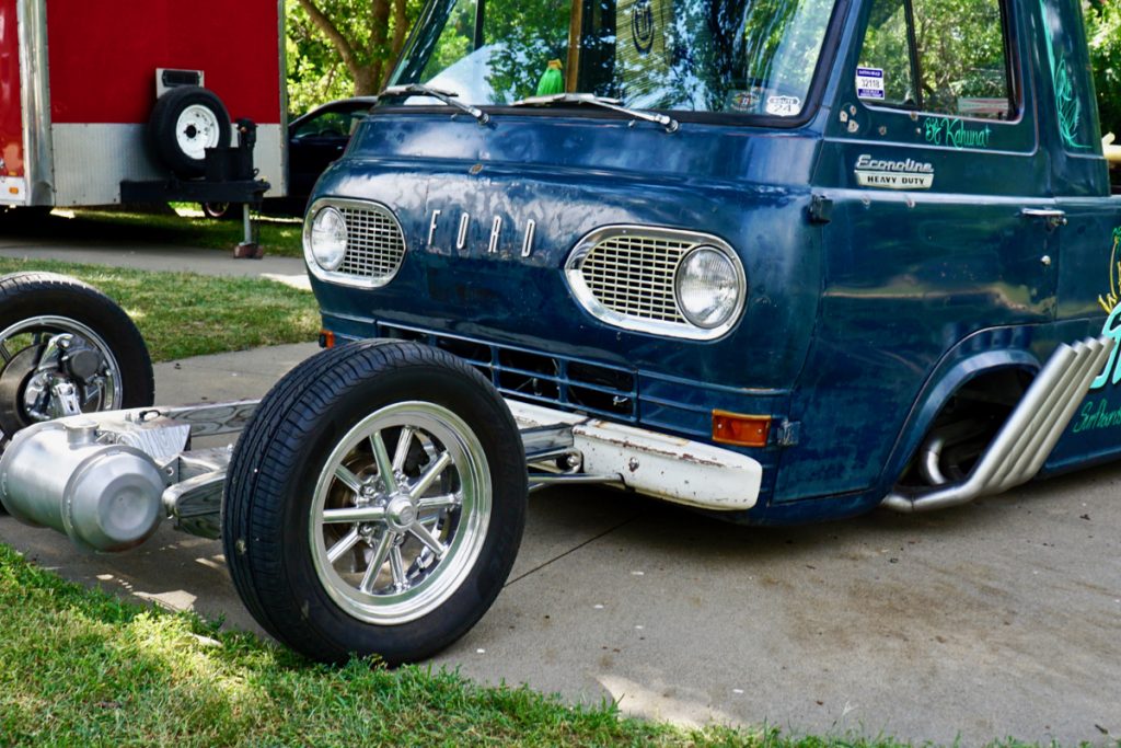
{"type": "Polygon", "coordinates": [[[123,407],[121,367],[104,339],[65,316],[20,320],[0,331],[0,430],[123,407]]]}

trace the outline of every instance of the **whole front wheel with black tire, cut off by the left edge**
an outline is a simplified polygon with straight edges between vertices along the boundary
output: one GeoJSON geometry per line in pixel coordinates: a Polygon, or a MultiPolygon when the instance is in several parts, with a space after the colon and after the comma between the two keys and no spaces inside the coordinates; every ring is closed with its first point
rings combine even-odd
{"type": "Polygon", "coordinates": [[[111,298],[53,273],[0,277],[0,444],[40,421],[151,405],[154,393],[143,338],[111,298]]]}

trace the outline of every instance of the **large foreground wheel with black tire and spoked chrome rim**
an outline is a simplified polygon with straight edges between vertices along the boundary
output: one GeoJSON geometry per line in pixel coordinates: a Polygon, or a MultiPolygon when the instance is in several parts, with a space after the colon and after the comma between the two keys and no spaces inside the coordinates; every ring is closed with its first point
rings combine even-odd
{"type": "Polygon", "coordinates": [[[411,342],[308,359],[234,451],[223,543],[257,621],[304,655],[428,657],[490,608],[521,542],[527,478],[478,371],[411,342]]]}

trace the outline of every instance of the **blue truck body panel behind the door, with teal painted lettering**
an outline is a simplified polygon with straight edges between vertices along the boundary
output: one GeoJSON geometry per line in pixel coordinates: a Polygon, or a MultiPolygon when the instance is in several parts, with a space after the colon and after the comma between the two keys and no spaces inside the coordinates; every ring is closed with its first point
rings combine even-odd
{"type": "MultiPolygon", "coordinates": [[[[1059,335],[1121,341],[1121,196],[1110,196],[1097,107],[1086,72],[1085,26],[1076,2],[1038,0],[1035,40],[1040,75],[1040,132],[1048,144],[1059,224],[1054,241],[1059,335]]],[[[1093,11],[1091,11],[1093,12],[1093,11]]],[[[1115,126],[1114,126],[1115,127],[1115,126]]],[[[1075,412],[1044,471],[1121,452],[1121,351],[1114,353],[1075,412]]]]}

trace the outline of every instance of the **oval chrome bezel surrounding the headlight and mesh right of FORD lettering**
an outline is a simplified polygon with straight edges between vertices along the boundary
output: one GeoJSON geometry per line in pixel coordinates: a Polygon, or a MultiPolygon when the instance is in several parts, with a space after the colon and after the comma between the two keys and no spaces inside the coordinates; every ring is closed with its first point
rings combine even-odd
{"type": "MultiPolygon", "coordinates": [[[[643,332],[666,338],[683,338],[688,340],[710,341],[728,334],[743,316],[743,308],[747,304],[748,280],[743,269],[743,264],[732,246],[720,237],[698,231],[686,231],[682,229],[666,229],[661,227],[645,227],[631,224],[606,225],[595,229],[581,239],[565,262],[565,277],[568,287],[580,305],[593,317],[605,324],[643,332]],[[675,318],[650,318],[633,313],[611,308],[604,304],[596,292],[589,285],[584,275],[585,264],[589,262],[593,252],[601,244],[615,240],[629,240],[634,242],[652,242],[677,248],[678,257],[673,269],[663,274],[665,286],[664,294],[671,296],[671,302],[676,307],[675,318]],[[731,264],[735,275],[736,298],[732,305],[732,312],[721,324],[712,327],[703,327],[694,324],[683,314],[680,303],[677,297],[677,270],[680,264],[692,252],[698,248],[707,248],[723,255],[731,264]]],[[[663,299],[664,301],[664,299],[663,299]]],[[[665,315],[663,315],[665,316],[665,315]]]]}

